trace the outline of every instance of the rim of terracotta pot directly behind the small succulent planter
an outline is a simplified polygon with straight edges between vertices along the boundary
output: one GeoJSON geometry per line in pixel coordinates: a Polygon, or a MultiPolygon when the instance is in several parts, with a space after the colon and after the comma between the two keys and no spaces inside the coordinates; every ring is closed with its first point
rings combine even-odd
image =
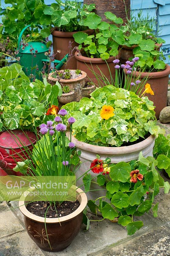
{"type": "MultiPolygon", "coordinates": [[[[96,63],[96,64],[106,64],[105,60],[102,60],[101,58],[89,58],[89,57],[84,57],[82,55],[78,55],[78,52],[75,52],[74,54],[76,60],[79,60],[81,62],[86,62],[86,63],[96,63]]],[[[110,56],[110,58],[108,60],[106,60],[108,63],[112,62],[113,60],[115,60],[116,58],[120,57],[120,52],[118,52],[118,55],[116,56],[110,56]]]]}

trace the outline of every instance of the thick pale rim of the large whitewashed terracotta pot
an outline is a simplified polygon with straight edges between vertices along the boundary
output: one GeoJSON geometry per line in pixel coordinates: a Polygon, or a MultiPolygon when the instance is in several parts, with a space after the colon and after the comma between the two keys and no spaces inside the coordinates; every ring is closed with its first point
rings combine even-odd
{"type": "MultiPolygon", "coordinates": [[[[67,137],[69,136],[70,132],[66,132],[67,137]]],[[[75,146],[86,150],[86,151],[93,151],[96,152],[96,154],[107,154],[107,155],[120,155],[120,154],[128,154],[129,152],[136,152],[136,151],[142,151],[143,148],[146,148],[149,146],[154,140],[155,140],[154,135],[150,135],[147,139],[138,142],[134,145],[131,146],[124,146],[124,147],[103,147],[103,146],[96,146],[96,145],[91,145],[88,143],[85,143],[83,141],[79,141],[74,136],[72,135],[72,142],[74,142],[75,146]]]]}

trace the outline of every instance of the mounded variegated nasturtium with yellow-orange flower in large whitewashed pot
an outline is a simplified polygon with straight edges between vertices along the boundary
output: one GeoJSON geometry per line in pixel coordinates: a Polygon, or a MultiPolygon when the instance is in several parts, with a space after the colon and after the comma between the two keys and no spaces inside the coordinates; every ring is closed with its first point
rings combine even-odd
{"type": "MultiPolygon", "coordinates": [[[[128,146],[139,138],[144,140],[149,134],[157,136],[162,132],[155,120],[153,102],[148,97],[140,98],[132,91],[113,85],[97,88],[90,99],[82,98],[64,108],[76,119],[75,138],[92,145],[128,146]]],[[[122,182],[128,176],[127,170],[125,166],[121,171],[122,182]]],[[[116,175],[117,170],[115,179],[116,175]]]]}

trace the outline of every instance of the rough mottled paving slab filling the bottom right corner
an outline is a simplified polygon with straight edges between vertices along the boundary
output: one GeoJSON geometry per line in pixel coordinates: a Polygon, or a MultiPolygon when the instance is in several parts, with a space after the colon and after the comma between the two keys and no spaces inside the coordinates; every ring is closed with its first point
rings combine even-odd
{"type": "Polygon", "coordinates": [[[138,236],[123,244],[115,245],[101,253],[89,256],[169,256],[170,223],[138,236]]]}

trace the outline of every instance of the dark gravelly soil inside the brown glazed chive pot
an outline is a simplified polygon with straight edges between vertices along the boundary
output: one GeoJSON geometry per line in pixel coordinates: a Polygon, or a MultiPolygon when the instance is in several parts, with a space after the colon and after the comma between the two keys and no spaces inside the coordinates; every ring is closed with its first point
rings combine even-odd
{"type": "Polygon", "coordinates": [[[26,209],[32,214],[37,215],[39,217],[45,218],[46,214],[46,218],[58,218],[67,216],[68,214],[77,210],[77,208],[80,206],[80,203],[78,200],[76,200],[75,202],[64,201],[61,205],[56,205],[57,212],[55,210],[54,205],[51,205],[50,207],[49,206],[49,202],[36,201],[27,204],[26,209]],[[47,208],[48,211],[46,213],[47,208]]]}

